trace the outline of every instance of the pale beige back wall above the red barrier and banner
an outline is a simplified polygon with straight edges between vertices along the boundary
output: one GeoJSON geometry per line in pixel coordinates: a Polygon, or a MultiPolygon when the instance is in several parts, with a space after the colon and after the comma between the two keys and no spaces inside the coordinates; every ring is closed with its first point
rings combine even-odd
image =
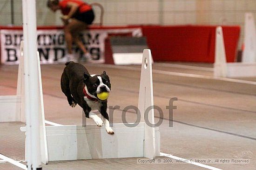
{"type": "MultiPolygon", "coordinates": [[[[22,24],[21,0],[14,1],[14,25],[22,24]]],[[[61,25],[60,13],[46,7],[47,0],[36,0],[38,25],[61,25]]],[[[104,25],[241,25],[244,13],[256,18],[256,0],[85,0],[98,2],[104,9],[104,25]]],[[[99,9],[95,8],[99,22],[99,9]]],[[[0,25],[11,24],[10,0],[0,0],[0,25]]],[[[240,43],[241,45],[241,43],[240,43]]]]}

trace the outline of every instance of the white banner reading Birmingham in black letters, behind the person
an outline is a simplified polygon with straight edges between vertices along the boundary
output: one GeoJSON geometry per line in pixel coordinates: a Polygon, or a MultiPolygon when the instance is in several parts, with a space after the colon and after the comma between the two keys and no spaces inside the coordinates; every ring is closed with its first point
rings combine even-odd
{"type": "MultiPolygon", "coordinates": [[[[141,28],[93,29],[82,32],[80,38],[95,60],[104,60],[105,39],[109,33],[131,33],[135,37],[142,36],[141,28]]],[[[22,30],[0,30],[1,63],[19,63],[20,41],[22,39],[22,30]]],[[[41,63],[58,63],[58,59],[64,57],[67,53],[65,36],[62,30],[38,30],[37,43],[41,63]]],[[[73,53],[77,57],[83,55],[75,44],[73,45],[73,53]]]]}

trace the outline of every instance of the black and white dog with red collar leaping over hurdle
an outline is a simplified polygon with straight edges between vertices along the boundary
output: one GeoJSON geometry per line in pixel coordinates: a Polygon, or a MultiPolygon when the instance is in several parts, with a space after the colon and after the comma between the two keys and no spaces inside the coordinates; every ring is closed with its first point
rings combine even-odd
{"type": "Polygon", "coordinates": [[[75,107],[76,104],[83,108],[85,116],[94,120],[97,126],[105,124],[106,131],[114,134],[109,126],[109,117],[107,113],[107,100],[102,101],[97,94],[109,92],[111,84],[106,71],[101,75],[90,75],[88,70],[79,63],[67,62],[61,76],[61,90],[67,96],[68,104],[75,107]],[[98,110],[102,119],[91,112],[98,110]]]}

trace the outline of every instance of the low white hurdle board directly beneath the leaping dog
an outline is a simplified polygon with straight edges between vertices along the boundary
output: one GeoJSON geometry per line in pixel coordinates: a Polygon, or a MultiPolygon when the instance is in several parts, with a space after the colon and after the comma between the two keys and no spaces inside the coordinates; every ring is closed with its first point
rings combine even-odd
{"type": "MultiPolygon", "coordinates": [[[[144,156],[145,123],[135,127],[114,124],[112,128],[114,135],[108,134],[105,126],[46,126],[49,161],[144,156]]],[[[21,131],[26,131],[26,127],[21,131]]],[[[156,156],[159,156],[158,130],[155,130],[155,143],[156,156]]]]}

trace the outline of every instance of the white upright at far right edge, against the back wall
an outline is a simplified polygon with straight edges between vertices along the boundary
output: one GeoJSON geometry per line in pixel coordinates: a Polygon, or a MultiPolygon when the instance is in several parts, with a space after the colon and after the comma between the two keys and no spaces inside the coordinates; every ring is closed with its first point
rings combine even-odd
{"type": "Polygon", "coordinates": [[[256,27],[253,13],[245,13],[243,63],[256,62],[256,27]]]}

